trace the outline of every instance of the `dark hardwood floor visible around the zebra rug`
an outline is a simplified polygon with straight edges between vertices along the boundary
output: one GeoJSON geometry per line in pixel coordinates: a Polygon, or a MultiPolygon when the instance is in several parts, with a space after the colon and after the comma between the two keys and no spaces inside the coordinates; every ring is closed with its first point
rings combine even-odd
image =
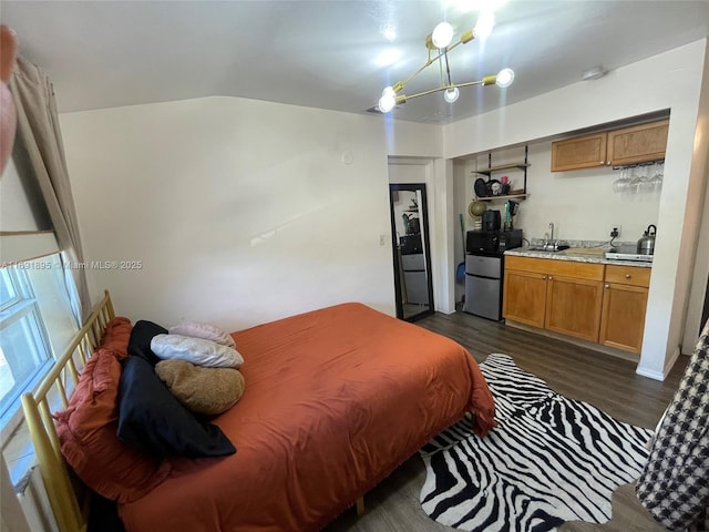
{"type": "MultiPolygon", "coordinates": [[[[417,325],[456,340],[467,348],[479,362],[492,352],[510,355],[518,367],[544,379],[559,393],[587,401],[620,421],[647,428],[657,424],[679,385],[688,361],[688,357],[680,357],[669,377],[660,382],[636,375],[635,362],[465,313],[450,316],[435,314],[417,321],[417,325]]],[[[364,497],[363,515],[358,518],[354,510],[349,510],[325,531],[454,530],[435,523],[421,510],[419,493],[424,480],[423,461],[414,456],[364,497]]],[[[617,513],[628,511],[625,507],[618,507],[614,499],[614,521],[616,509],[617,513]]],[[[623,530],[605,526],[597,530],[623,530]]],[[[572,530],[582,529],[564,526],[564,531],[572,530]]],[[[647,529],[633,530],[657,529],[651,529],[648,524],[647,529]]]]}

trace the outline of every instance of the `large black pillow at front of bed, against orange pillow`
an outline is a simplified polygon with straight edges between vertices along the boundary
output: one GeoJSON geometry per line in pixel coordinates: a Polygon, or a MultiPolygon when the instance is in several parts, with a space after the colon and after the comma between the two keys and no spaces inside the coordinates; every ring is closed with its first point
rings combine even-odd
{"type": "Polygon", "coordinates": [[[236,449],[216,424],[185,409],[151,364],[129,356],[121,361],[119,439],[154,457],[223,457],[236,449]]]}

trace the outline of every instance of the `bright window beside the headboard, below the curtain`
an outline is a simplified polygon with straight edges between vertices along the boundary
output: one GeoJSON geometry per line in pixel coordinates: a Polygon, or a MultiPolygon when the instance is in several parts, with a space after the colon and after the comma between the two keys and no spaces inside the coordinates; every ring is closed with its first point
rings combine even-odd
{"type": "Polygon", "coordinates": [[[78,330],[59,253],[0,268],[0,424],[78,330]]]}

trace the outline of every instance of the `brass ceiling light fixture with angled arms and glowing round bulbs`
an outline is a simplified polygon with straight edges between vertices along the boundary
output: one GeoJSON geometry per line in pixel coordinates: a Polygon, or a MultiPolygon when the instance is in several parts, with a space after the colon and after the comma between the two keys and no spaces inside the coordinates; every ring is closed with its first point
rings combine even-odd
{"type": "MultiPolygon", "coordinates": [[[[494,23],[494,17],[492,19],[494,23]]],[[[492,27],[490,27],[492,31],[492,27]]],[[[438,24],[433,32],[425,38],[425,47],[429,50],[429,59],[428,61],[417,70],[413,74],[407,78],[403,81],[394,83],[391,86],[387,86],[379,99],[378,109],[382,113],[389,113],[397,105],[405,103],[409,100],[413,100],[414,98],[425,96],[428,94],[433,94],[434,92],[443,92],[443,99],[448,103],[455,102],[460,96],[460,89],[463,86],[472,86],[472,85],[492,85],[496,84],[501,89],[505,89],[512,84],[514,81],[514,72],[511,69],[501,70],[497,75],[486,75],[482,80],[479,81],[466,81],[463,83],[453,83],[451,81],[451,69],[448,61],[448,54],[453,51],[460,44],[467,44],[470,41],[480,37],[475,30],[467,30],[463,33],[458,42],[451,45],[451,41],[453,39],[453,27],[448,22],[441,22],[438,24]],[[439,70],[441,72],[441,84],[434,89],[430,89],[428,91],[422,91],[417,94],[401,94],[401,91],[413,80],[417,75],[423,72],[427,68],[431,66],[433,63],[439,64],[439,70]]]]}

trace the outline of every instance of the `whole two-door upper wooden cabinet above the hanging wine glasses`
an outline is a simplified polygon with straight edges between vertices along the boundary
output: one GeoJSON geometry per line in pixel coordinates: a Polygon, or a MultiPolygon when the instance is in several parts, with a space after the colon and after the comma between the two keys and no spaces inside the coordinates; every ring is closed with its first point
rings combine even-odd
{"type": "Polygon", "coordinates": [[[552,172],[623,166],[665,158],[669,120],[552,143],[552,172]]]}

